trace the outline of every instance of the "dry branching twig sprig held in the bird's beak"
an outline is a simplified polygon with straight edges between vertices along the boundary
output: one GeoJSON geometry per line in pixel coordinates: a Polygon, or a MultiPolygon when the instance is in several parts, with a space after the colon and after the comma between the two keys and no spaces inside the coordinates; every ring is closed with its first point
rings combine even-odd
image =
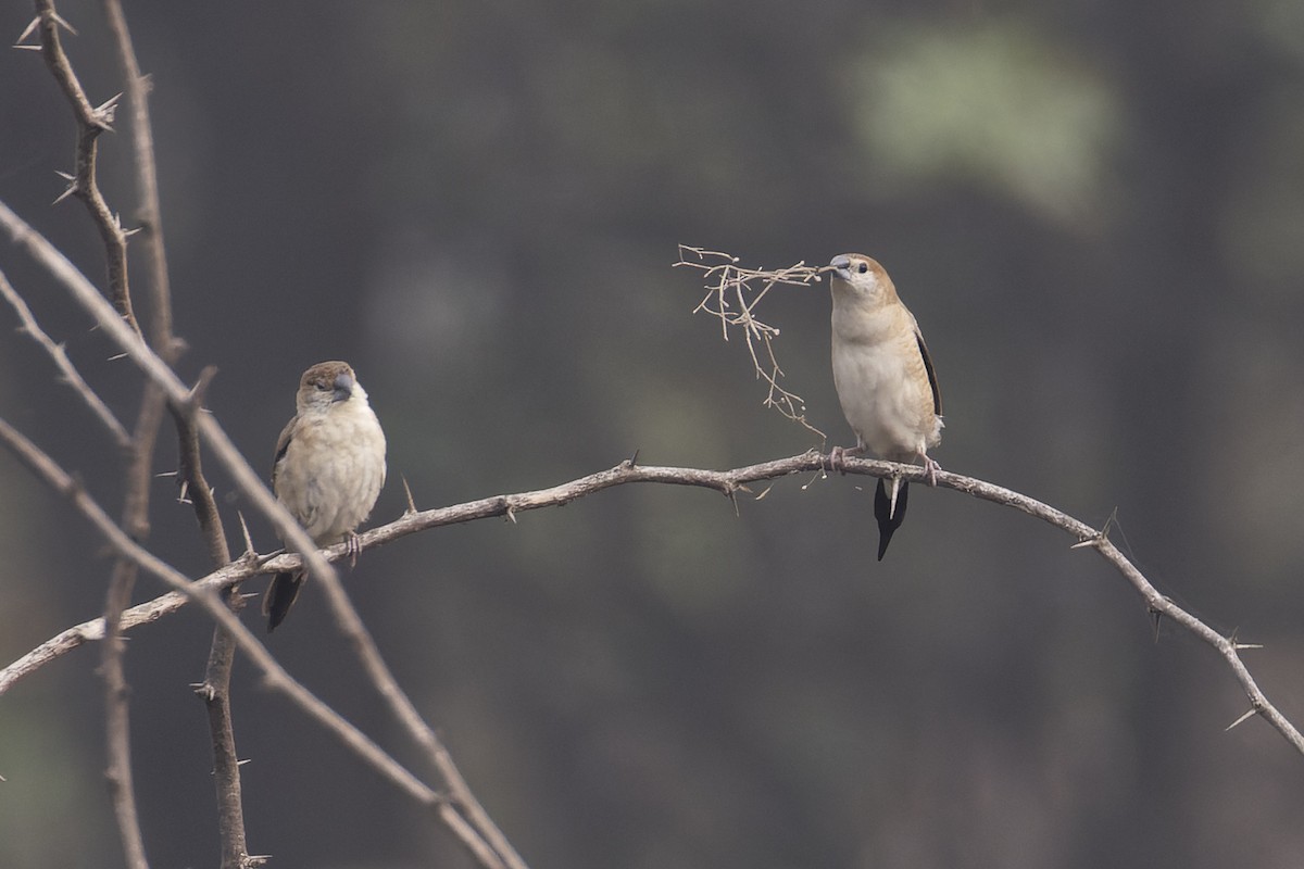
{"type": "Polygon", "coordinates": [[[691,245],[679,245],[679,262],[674,264],[698,268],[703,272],[707,294],[692,309],[694,314],[705,311],[720,318],[720,331],[726,341],[730,326],[742,328],[747,352],[751,354],[751,363],[756,369],[756,379],[764,380],[769,387],[764,405],[775,408],[793,422],[799,422],[808,431],[827,440],[828,435],[806,420],[806,400],[780,386],[778,379],[784,377],[784,370],[778,367],[778,360],[775,357],[775,339],[778,337],[778,327],[758,319],[755,310],[765,293],[780,284],[810,287],[819,281],[820,274],[828,271],[828,266],[816,267],[799,262],[795,266],[775,271],[741,268],[738,257],[691,245]]]}

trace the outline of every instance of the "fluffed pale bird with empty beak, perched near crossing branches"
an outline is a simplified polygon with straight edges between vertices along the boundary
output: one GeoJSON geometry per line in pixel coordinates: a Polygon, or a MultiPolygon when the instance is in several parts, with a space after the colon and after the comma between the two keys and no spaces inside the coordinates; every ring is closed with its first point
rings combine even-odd
{"type": "MultiPolygon", "coordinates": [[[[299,380],[297,412],[276,442],[271,487],[317,546],[348,542],[385,485],[385,433],[347,362],[318,362],[299,380]]],[[[278,573],[262,601],[267,631],[284,620],[304,582],[278,573]]]]}

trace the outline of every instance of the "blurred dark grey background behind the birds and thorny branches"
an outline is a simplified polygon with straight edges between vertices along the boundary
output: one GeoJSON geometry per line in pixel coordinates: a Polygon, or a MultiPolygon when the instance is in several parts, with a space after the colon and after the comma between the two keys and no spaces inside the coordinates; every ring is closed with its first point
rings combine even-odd
{"type": "MultiPolygon", "coordinates": [[[[91,99],[98,4],[64,1],[91,99]]],[[[822,446],[692,317],[675,244],[880,259],[947,399],[943,468],[1124,543],[1304,722],[1304,5],[128,4],[154,79],[180,363],[269,466],[299,374],[351,361],[390,440],[373,522],[614,465],[822,446]]],[[[12,42],[30,7],[8,3],[12,42]]],[[[130,220],[124,135],[103,186],[130,220]]],[[[102,280],[73,126],[0,52],[0,198],[102,280]]],[[[140,383],[3,267],[124,420],[140,383]]],[[[137,274],[143,274],[137,268],[137,274]]],[[[848,444],[827,285],[772,293],[786,386],[848,444]]],[[[143,305],[143,301],[141,302],[143,305]]],[[[119,461],[0,310],[0,416],[116,513],[119,461]]],[[[175,466],[164,436],[158,470],[175,466]]],[[[226,478],[214,473],[232,543],[226,478]]],[[[1304,760],[1227,667],[1061,533],[919,489],[883,563],[865,478],[760,502],[623,487],[366,552],[349,589],[477,795],[554,866],[1299,866],[1304,760]]],[[[158,481],[151,545],[206,572],[158,481]]],[[[263,551],[278,543],[265,522],[263,551]]],[[[102,606],[86,525],[0,456],[0,658],[102,606]]],[[[252,590],[261,590],[258,582],[252,590]]],[[[142,581],[137,599],[159,593],[142,581]]],[[[250,610],[246,619],[257,621],[250,610]]],[[[216,862],[209,623],[132,633],[156,866],[216,862]]],[[[271,649],[399,756],[309,586],[271,649]]],[[[0,865],[116,866],[98,650],[0,700],[0,865]]],[[[276,866],[467,865],[237,662],[249,844],[276,866]]]]}

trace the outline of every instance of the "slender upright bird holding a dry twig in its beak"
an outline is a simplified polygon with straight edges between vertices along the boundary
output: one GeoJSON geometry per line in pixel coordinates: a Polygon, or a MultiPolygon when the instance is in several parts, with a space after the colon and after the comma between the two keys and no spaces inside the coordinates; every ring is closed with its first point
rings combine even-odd
{"type": "MultiPolygon", "coordinates": [[[[936,485],[939,468],[928,449],[941,443],[941,392],[919,324],[875,261],[841,254],[829,268],[833,386],[855,431],[854,448],[833,448],[835,465],[842,455],[868,449],[888,461],[922,461],[928,483],[936,485]]],[[[900,477],[889,486],[879,479],[875,490],[880,562],[905,519],[906,490],[900,477]]]]}

